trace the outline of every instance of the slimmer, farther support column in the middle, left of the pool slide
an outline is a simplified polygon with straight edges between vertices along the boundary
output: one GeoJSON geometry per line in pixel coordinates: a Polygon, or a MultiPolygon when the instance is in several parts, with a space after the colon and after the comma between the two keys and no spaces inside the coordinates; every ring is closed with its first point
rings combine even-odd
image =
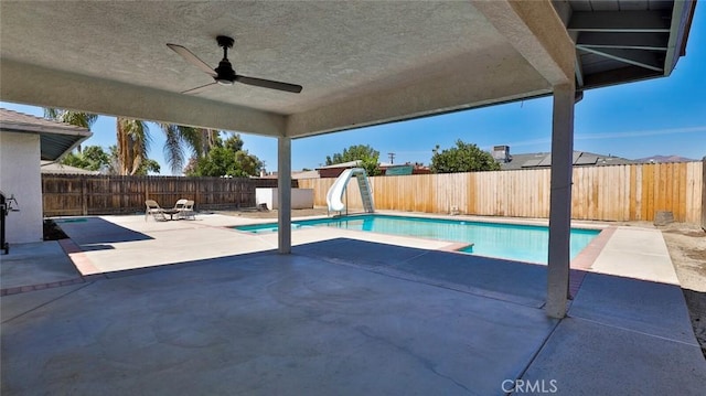
{"type": "Polygon", "coordinates": [[[277,138],[277,243],[280,255],[291,253],[291,138],[277,138]]]}

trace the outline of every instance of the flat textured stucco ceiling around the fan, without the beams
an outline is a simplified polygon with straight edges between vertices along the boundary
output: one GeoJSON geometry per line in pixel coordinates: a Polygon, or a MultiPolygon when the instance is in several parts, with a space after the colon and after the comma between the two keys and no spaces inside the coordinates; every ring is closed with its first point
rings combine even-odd
{"type": "Polygon", "coordinates": [[[420,60],[432,65],[503,40],[469,2],[2,2],[8,58],[175,93],[211,77],[165,44],[215,67],[218,34],[236,40],[228,57],[237,73],[304,90],[292,98],[236,85],[199,96],[281,114],[350,95],[342,88],[394,86],[420,60]]]}

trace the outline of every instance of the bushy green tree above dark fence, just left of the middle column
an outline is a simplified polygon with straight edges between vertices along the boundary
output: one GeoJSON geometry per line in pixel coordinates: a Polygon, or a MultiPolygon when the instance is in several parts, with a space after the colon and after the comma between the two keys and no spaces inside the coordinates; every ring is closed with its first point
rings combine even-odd
{"type": "Polygon", "coordinates": [[[257,175],[263,161],[243,150],[243,139],[235,133],[223,142],[216,142],[207,154],[192,158],[184,172],[190,176],[234,176],[257,175]]]}

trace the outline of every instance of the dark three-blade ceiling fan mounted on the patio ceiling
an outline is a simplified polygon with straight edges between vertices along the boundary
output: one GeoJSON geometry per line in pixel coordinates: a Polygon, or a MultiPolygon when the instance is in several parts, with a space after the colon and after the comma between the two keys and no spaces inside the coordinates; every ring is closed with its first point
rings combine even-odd
{"type": "Polygon", "coordinates": [[[183,57],[186,62],[201,68],[203,72],[208,74],[214,79],[213,83],[210,83],[196,88],[192,88],[189,90],[184,90],[182,92],[182,94],[194,94],[215,84],[233,85],[233,83],[235,82],[247,84],[247,85],[254,85],[256,87],[285,90],[285,92],[295,93],[295,94],[299,94],[301,92],[301,85],[275,82],[271,79],[246,77],[246,76],[236,74],[235,71],[233,69],[233,66],[231,65],[231,62],[228,61],[228,49],[233,47],[233,43],[235,41],[232,38],[220,35],[216,38],[216,42],[218,43],[218,46],[223,47],[223,60],[218,63],[218,67],[216,67],[215,69],[211,68],[211,66],[208,66],[207,63],[203,62],[196,55],[194,55],[191,51],[186,50],[185,46],[182,46],[179,44],[167,44],[167,46],[169,46],[172,51],[181,55],[181,57],[183,57]]]}

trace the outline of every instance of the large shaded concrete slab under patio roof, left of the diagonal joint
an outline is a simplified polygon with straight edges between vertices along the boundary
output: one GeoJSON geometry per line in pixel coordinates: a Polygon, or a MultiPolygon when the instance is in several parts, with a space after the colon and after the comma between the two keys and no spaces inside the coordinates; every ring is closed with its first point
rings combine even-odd
{"type": "Polygon", "coordinates": [[[342,243],[400,255],[381,267],[426,253],[339,239],[8,296],[2,394],[496,394],[557,324],[312,253],[342,243]]]}

